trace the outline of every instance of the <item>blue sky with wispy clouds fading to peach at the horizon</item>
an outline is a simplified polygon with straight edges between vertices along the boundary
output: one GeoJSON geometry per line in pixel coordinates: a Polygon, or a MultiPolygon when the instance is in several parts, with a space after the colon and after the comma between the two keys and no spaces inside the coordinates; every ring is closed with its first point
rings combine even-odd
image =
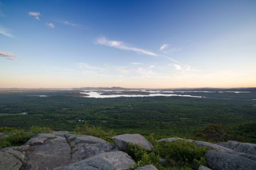
{"type": "Polygon", "coordinates": [[[256,87],[256,1],[0,0],[0,88],[256,87]]]}

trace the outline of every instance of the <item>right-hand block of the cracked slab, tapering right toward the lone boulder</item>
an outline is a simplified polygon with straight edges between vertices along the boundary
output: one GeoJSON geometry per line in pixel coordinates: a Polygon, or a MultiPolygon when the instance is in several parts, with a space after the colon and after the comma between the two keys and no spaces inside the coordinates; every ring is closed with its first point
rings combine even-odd
{"type": "Polygon", "coordinates": [[[77,162],[102,152],[118,151],[115,145],[92,136],[69,137],[67,140],[72,148],[71,162],[77,162]]]}

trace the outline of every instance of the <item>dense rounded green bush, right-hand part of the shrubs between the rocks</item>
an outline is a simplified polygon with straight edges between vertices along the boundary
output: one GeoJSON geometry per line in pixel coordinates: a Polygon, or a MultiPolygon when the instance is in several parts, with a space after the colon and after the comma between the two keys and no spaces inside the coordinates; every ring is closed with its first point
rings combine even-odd
{"type": "Polygon", "coordinates": [[[177,140],[175,142],[158,143],[156,150],[161,158],[167,159],[167,167],[199,168],[205,165],[204,155],[209,149],[198,147],[195,143],[177,140]]]}

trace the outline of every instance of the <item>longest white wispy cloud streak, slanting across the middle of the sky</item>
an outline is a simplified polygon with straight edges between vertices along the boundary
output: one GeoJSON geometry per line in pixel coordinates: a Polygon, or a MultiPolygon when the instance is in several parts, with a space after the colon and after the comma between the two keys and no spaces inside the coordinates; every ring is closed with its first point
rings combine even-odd
{"type": "Polygon", "coordinates": [[[113,48],[117,48],[117,49],[120,49],[120,50],[133,51],[133,52],[140,53],[140,54],[145,54],[145,55],[148,55],[148,56],[158,56],[158,54],[156,54],[154,52],[150,52],[148,50],[144,50],[144,49],[140,49],[140,48],[135,48],[133,46],[128,46],[125,43],[123,43],[122,41],[108,40],[104,36],[98,38],[96,40],[96,43],[100,44],[100,45],[111,46],[113,48]]]}

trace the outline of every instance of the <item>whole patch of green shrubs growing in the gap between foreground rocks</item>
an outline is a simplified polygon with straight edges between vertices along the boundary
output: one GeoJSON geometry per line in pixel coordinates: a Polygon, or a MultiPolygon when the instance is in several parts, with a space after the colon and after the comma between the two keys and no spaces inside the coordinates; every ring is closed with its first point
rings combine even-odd
{"type": "Polygon", "coordinates": [[[129,145],[128,154],[135,160],[136,166],[153,164],[158,169],[198,169],[200,165],[206,165],[204,159],[207,147],[198,147],[194,143],[182,140],[175,142],[158,142],[154,135],[147,139],[153,144],[151,152],[135,145],[129,145]],[[159,159],[164,159],[160,165],[159,159]]]}

